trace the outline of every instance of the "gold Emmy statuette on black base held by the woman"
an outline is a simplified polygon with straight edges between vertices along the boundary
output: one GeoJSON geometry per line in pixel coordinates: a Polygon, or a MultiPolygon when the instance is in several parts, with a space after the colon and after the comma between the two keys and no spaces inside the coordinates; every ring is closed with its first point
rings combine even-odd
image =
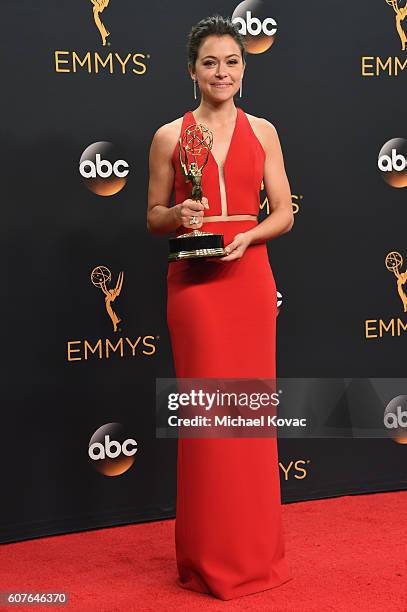
{"type": "MultiPolygon", "coordinates": [[[[186,182],[191,181],[191,199],[202,201],[202,170],[208,162],[213,135],[202,124],[188,126],[178,141],[179,161],[186,182]]],[[[193,230],[169,239],[168,261],[222,257],[227,255],[223,234],[193,230]]]]}

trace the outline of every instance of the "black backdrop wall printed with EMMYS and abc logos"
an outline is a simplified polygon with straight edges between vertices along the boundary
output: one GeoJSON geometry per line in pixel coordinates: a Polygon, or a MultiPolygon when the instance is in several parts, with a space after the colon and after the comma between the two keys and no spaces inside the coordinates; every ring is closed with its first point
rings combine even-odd
{"type": "Polygon", "coordinates": [[[175,516],[177,441],[155,423],[156,379],[174,376],[168,245],[146,228],[148,153],[199,103],[186,37],[214,13],[246,36],[235,102],[276,126],[292,190],[294,227],[268,245],[278,374],[352,390],[332,404],[348,435],[279,440],[282,499],[407,486],[405,0],[7,0],[2,542],[175,516]],[[383,397],[371,378],[396,382],[383,397]],[[398,435],[357,438],[371,410],[398,435]]]}

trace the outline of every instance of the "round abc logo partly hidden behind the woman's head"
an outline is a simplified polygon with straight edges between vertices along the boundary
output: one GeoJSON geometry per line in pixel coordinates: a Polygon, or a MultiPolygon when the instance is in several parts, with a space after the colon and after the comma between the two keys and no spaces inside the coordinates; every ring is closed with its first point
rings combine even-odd
{"type": "Polygon", "coordinates": [[[244,0],[234,10],[232,21],[245,37],[248,53],[264,53],[270,49],[277,32],[277,22],[267,15],[268,7],[261,0],[244,0]]]}

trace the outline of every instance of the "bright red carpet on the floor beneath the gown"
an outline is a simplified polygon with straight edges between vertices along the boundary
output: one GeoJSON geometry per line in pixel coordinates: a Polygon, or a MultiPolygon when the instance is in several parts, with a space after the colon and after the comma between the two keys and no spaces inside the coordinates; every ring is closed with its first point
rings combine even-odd
{"type": "Polygon", "coordinates": [[[283,506],[294,579],[231,601],[175,584],[174,521],[3,544],[0,591],[67,591],[67,606],[106,612],[407,611],[407,491],[283,506]]]}

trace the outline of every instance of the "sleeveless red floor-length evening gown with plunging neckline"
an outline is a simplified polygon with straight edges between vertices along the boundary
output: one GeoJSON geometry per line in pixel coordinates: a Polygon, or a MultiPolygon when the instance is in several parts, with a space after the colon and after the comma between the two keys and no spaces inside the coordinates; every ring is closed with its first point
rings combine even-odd
{"type": "MultiPolygon", "coordinates": [[[[191,112],[181,133],[196,123],[191,112]]],[[[227,214],[259,213],[265,153],[244,111],[224,164],[227,214]]],[[[174,149],[175,204],[191,183],[174,149]]],[[[219,172],[209,156],[204,214],[221,214],[219,172]]],[[[204,223],[225,246],[257,220],[204,223]]],[[[193,228],[191,228],[192,231],[193,228]]],[[[177,229],[177,234],[189,231],[177,229]]],[[[275,378],[276,286],[265,243],[240,260],[168,264],[167,321],[177,378],[275,378]]],[[[175,545],[179,586],[228,600],[291,579],[281,523],[276,438],[179,438],[175,545]]]]}

